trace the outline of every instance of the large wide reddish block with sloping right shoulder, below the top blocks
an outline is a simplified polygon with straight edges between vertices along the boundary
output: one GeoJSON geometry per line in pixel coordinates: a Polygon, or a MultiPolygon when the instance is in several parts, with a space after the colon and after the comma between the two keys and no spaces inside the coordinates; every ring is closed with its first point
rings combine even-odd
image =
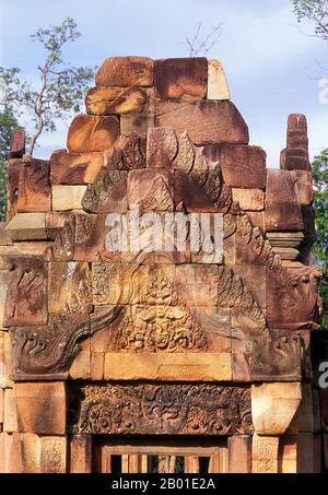
{"type": "Polygon", "coordinates": [[[247,144],[249,140],[248,128],[231,102],[160,102],[155,126],[187,131],[195,144],[247,144]]]}

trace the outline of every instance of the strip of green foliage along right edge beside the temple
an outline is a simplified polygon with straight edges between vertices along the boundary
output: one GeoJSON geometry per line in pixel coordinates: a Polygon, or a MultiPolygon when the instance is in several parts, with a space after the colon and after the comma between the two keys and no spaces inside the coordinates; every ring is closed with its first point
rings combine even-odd
{"type": "Polygon", "coordinates": [[[317,241],[314,245],[314,255],[317,264],[323,269],[320,294],[324,299],[324,326],[328,326],[328,148],[320,155],[315,156],[312,164],[315,188],[314,207],[316,210],[317,241]]]}

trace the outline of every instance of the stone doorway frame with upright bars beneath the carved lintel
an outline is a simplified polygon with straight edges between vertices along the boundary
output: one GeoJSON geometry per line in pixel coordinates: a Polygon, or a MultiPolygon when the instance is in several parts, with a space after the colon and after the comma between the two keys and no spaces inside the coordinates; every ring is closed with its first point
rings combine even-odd
{"type": "Polygon", "coordinates": [[[227,437],[208,439],[93,439],[93,472],[227,473],[227,437]]]}

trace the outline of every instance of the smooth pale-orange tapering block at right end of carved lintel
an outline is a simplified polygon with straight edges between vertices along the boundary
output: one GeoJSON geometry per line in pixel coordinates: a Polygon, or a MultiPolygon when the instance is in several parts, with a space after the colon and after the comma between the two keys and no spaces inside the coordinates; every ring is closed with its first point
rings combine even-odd
{"type": "Polygon", "coordinates": [[[301,384],[262,384],[251,387],[251,416],[258,435],[282,435],[302,399],[301,384]]]}

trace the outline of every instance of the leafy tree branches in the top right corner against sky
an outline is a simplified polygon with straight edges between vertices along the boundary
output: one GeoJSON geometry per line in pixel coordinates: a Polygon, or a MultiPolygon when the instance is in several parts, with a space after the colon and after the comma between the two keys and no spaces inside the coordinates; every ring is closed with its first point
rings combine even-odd
{"type": "Polygon", "coordinates": [[[328,39],[328,0],[292,0],[297,21],[308,19],[315,24],[315,36],[328,39]]]}

